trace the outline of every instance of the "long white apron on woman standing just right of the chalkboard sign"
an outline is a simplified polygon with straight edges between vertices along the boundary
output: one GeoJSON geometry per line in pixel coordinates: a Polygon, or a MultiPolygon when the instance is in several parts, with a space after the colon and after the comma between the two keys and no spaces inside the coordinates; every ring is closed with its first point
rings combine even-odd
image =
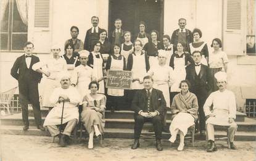
{"type": "MultiPolygon", "coordinates": [[[[131,69],[131,72],[133,72],[133,78],[139,78],[141,81],[143,77],[147,75],[144,54],[139,54],[138,56],[133,55],[133,68],[131,69]]],[[[132,88],[143,89],[144,86],[143,83],[139,83],[139,81],[134,81],[132,88]]]]}

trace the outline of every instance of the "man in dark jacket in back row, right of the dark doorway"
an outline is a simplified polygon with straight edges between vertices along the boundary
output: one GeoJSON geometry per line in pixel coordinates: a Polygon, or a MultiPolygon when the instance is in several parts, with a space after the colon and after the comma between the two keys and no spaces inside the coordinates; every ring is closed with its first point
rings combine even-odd
{"type": "Polygon", "coordinates": [[[171,35],[171,44],[173,44],[174,51],[177,50],[177,44],[183,44],[184,51],[189,50],[189,43],[194,41],[192,32],[186,28],[186,19],[181,18],[178,20],[179,29],[173,31],[171,35]]]}

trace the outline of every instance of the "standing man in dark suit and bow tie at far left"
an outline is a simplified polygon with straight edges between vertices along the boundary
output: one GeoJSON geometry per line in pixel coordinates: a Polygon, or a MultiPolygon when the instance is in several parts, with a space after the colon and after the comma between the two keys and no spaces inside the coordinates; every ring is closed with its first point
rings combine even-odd
{"type": "Polygon", "coordinates": [[[41,125],[42,120],[38,94],[38,83],[41,81],[42,74],[35,72],[32,69],[33,64],[39,62],[39,58],[31,54],[33,49],[33,43],[25,43],[25,54],[15,60],[10,71],[10,75],[12,75],[19,82],[19,97],[20,104],[22,106],[22,120],[24,123],[23,130],[27,131],[29,128],[28,104],[31,103],[33,106],[37,128],[44,131],[44,128],[41,125]]]}

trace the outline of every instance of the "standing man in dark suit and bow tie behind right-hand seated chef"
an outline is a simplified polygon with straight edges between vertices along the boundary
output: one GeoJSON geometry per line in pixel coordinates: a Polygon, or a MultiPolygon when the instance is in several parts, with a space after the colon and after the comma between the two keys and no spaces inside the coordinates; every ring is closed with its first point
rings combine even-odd
{"type": "MultiPolygon", "coordinates": [[[[192,53],[195,64],[189,65],[186,68],[186,80],[191,83],[190,91],[197,96],[199,105],[199,123],[200,133],[203,134],[205,131],[205,114],[204,114],[204,103],[212,91],[213,78],[210,74],[210,69],[204,64],[201,64],[202,53],[200,51],[194,51],[192,53]]],[[[197,125],[198,128],[198,125],[197,125]]]]}

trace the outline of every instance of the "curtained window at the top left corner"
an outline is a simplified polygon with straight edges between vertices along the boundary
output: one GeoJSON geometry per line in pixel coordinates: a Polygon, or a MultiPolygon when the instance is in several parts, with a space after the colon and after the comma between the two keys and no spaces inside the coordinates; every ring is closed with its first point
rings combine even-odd
{"type": "Polygon", "coordinates": [[[20,51],[28,39],[27,0],[1,1],[1,50],[20,51]]]}

